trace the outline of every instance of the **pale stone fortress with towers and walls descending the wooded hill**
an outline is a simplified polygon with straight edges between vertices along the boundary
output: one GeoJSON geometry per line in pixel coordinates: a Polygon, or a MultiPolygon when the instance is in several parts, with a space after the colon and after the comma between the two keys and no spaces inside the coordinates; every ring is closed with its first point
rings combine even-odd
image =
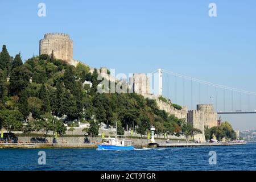
{"type": "MultiPolygon", "coordinates": [[[[51,55],[52,51],[56,59],[64,60],[75,67],[79,63],[79,61],[73,60],[73,41],[69,38],[68,34],[49,33],[44,35],[44,39],[40,40],[39,54],[51,55]]],[[[89,68],[90,73],[93,73],[95,68],[89,68]]],[[[119,81],[109,75],[108,69],[105,67],[96,70],[107,80],[119,81]]],[[[159,99],[159,96],[150,94],[150,78],[148,78],[145,73],[134,73],[133,76],[129,78],[129,84],[133,93],[141,94],[148,99],[154,99],[159,109],[165,110],[168,114],[173,114],[177,118],[185,118],[187,123],[191,123],[193,127],[200,129],[202,134],[195,135],[194,137],[198,142],[205,142],[205,127],[211,128],[218,125],[217,113],[214,113],[213,105],[199,104],[196,110],[188,110],[186,106],[183,106],[181,110],[178,110],[172,106],[170,100],[164,102],[159,99]]]]}

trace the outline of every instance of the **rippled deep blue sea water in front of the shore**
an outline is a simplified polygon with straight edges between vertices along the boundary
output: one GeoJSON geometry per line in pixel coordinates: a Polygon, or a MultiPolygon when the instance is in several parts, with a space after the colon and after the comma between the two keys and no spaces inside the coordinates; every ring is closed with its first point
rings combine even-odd
{"type": "Polygon", "coordinates": [[[166,150],[97,151],[84,148],[0,149],[0,170],[256,170],[256,143],[166,150]],[[46,165],[38,152],[46,152],[46,165]],[[209,152],[217,154],[209,164],[209,152]]]}

